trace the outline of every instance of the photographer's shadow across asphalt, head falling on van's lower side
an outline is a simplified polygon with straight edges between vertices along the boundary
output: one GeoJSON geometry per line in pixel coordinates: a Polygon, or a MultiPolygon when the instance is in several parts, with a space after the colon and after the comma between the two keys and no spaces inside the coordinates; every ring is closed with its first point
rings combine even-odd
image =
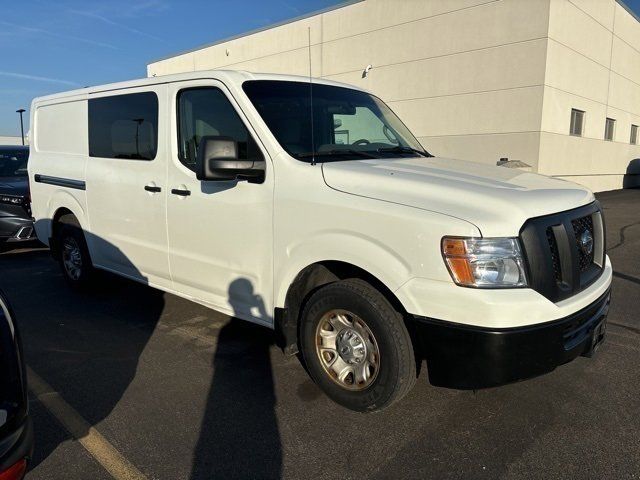
{"type": "MultiPolygon", "coordinates": [[[[264,302],[253,294],[249,280],[235,280],[229,298],[238,297],[234,291],[252,297],[253,307],[264,312],[264,302]]],[[[282,447],[269,355],[274,342],[272,330],[237,318],[220,331],[192,480],[280,478],[282,447]],[[256,334],[257,329],[264,331],[256,334]]]]}

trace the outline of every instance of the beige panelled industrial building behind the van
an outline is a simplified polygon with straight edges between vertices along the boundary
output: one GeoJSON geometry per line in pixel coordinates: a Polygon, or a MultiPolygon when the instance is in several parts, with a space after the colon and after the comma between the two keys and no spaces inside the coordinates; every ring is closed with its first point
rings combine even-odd
{"type": "Polygon", "coordinates": [[[640,22],[619,0],[351,1],[147,69],[308,75],[309,51],[313,76],[374,92],[436,155],[640,185],[640,22]]]}

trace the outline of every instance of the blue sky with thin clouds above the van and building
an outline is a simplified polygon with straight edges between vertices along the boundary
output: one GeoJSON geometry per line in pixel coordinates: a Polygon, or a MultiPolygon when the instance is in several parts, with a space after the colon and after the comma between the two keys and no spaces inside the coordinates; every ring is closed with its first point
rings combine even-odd
{"type": "Polygon", "coordinates": [[[20,133],[15,111],[33,97],[144,77],[151,60],[338,3],[1,0],[0,135],[20,133]]]}

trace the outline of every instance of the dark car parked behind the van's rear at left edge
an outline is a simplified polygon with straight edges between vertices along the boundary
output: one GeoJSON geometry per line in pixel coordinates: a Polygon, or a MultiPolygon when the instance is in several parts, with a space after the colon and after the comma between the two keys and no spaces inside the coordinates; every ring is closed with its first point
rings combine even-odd
{"type": "Polygon", "coordinates": [[[29,198],[29,147],[0,146],[0,248],[35,239],[29,198]]]}

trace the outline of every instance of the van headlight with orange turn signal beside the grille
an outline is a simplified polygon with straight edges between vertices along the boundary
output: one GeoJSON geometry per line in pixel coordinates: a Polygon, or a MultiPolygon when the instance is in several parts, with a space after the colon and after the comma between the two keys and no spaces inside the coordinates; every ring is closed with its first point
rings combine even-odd
{"type": "Polygon", "coordinates": [[[524,258],[517,238],[442,239],[442,255],[453,281],[465,287],[526,287],[524,258]]]}

